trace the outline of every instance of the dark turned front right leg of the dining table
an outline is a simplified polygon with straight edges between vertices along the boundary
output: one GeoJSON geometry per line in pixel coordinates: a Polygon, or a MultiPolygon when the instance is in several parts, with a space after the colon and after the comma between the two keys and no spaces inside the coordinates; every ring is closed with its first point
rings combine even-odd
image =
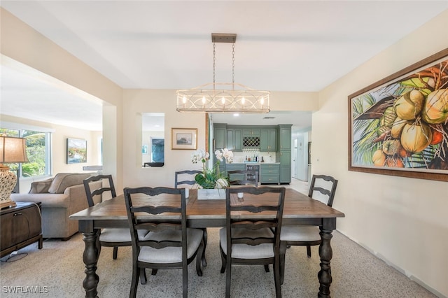
{"type": "Polygon", "coordinates": [[[331,266],[330,260],[333,256],[330,241],[332,239],[332,231],[336,228],[335,218],[323,220],[321,229],[321,245],[319,246],[319,256],[321,257],[321,271],[318,273],[319,292],[318,297],[330,298],[331,266]]]}

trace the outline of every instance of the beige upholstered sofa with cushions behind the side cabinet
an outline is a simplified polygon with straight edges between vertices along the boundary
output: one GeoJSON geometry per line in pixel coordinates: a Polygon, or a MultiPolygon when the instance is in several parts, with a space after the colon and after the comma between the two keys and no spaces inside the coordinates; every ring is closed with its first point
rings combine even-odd
{"type": "MultiPolygon", "coordinates": [[[[31,183],[27,194],[11,194],[13,201],[41,202],[42,236],[66,241],[78,232],[73,213],[87,208],[83,180],[94,173],[57,173],[53,178],[31,183]]],[[[101,181],[97,181],[101,186],[101,181]]]]}

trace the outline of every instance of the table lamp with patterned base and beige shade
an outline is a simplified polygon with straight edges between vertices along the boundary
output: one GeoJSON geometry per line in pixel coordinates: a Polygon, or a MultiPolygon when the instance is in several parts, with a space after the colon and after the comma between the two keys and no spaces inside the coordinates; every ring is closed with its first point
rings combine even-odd
{"type": "Polygon", "coordinates": [[[0,208],[16,206],[11,200],[18,177],[4,163],[28,162],[26,140],[13,136],[0,136],[0,208]]]}

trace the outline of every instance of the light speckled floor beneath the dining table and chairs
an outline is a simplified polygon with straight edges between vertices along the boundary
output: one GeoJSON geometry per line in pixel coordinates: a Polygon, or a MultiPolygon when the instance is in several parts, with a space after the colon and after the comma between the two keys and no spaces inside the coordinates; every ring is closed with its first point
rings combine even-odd
{"type": "MultiPolygon", "coordinates": [[[[208,266],[202,277],[197,276],[195,262],[188,271],[190,297],[224,297],[225,274],[220,273],[221,257],[218,248],[218,229],[208,229],[208,266]]],[[[358,244],[339,232],[333,233],[332,297],[435,297],[407,276],[389,267],[358,244]]],[[[15,262],[0,264],[2,298],[6,297],[84,297],[82,262],[84,243],[81,234],[69,241],[47,239],[43,249],[37,244],[22,248],[28,255],[15,262]],[[41,294],[12,294],[10,287],[40,287],[41,294]],[[47,287],[47,288],[45,288],[47,287]]],[[[99,297],[129,297],[131,281],[131,248],[119,248],[118,260],[112,259],[112,248],[102,248],[97,274],[99,297]]],[[[286,255],[286,278],[282,285],[283,297],[316,297],[319,271],[318,246],[292,247],[286,255]]],[[[156,276],[148,271],[148,283],[140,285],[137,297],[181,297],[181,270],[160,270],[156,276]]],[[[16,288],[17,289],[17,288],[16,288]]],[[[36,288],[35,288],[36,289],[36,288]]],[[[39,289],[38,289],[39,290],[39,289]]],[[[265,273],[262,266],[235,266],[232,269],[232,297],[275,297],[272,270],[265,273]]]]}

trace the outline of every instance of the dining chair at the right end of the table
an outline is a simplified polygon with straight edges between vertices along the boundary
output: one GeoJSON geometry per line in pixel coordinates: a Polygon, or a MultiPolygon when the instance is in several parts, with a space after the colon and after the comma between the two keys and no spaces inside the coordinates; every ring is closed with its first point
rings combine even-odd
{"type": "MultiPolygon", "coordinates": [[[[332,176],[313,175],[308,197],[331,207],[335,199],[336,187],[337,180],[332,176]]],[[[280,236],[281,283],[284,278],[286,249],[290,246],[307,246],[307,256],[311,257],[311,246],[321,244],[319,233],[320,229],[316,226],[283,226],[280,236]]]]}

